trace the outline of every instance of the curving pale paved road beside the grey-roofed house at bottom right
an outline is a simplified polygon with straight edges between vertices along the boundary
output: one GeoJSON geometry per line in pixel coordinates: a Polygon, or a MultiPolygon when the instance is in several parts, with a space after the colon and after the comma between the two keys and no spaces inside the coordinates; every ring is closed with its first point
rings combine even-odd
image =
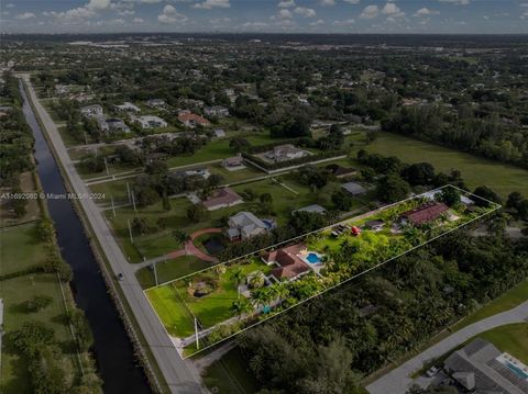
{"type": "Polygon", "coordinates": [[[409,378],[409,375],[424,368],[426,363],[429,363],[433,359],[446,354],[450,350],[465,342],[475,335],[479,335],[480,333],[498,326],[504,326],[506,324],[524,323],[527,320],[528,301],[525,301],[522,304],[513,309],[484,318],[458,330],[457,333],[453,333],[448,338],[431,346],[420,354],[367,385],[366,390],[371,394],[405,394],[405,392],[413,384],[413,379],[409,378]]]}

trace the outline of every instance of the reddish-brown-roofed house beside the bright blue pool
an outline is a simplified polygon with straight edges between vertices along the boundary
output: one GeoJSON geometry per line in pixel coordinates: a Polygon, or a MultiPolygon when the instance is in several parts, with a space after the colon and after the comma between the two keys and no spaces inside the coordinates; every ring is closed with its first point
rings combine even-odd
{"type": "Polygon", "coordinates": [[[268,266],[277,266],[272,271],[272,277],[277,281],[292,281],[311,271],[310,267],[299,257],[302,250],[306,250],[306,246],[300,243],[272,250],[263,257],[263,260],[268,266]]]}

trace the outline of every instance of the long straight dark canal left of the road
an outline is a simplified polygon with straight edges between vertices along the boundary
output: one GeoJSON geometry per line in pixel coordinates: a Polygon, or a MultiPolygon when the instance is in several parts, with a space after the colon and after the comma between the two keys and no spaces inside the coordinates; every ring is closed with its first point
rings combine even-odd
{"type": "MultiPolygon", "coordinates": [[[[44,193],[66,194],[57,164],[28,102],[22,82],[20,91],[24,99],[24,116],[35,137],[37,172],[44,193]]],[[[132,344],[107,293],[99,264],[72,202],[54,199],[46,203],[57,230],[61,255],[74,272],[72,290],[75,302],[85,312],[94,333],[97,369],[105,382],[105,393],[150,393],[143,370],[135,360],[132,344]]]]}

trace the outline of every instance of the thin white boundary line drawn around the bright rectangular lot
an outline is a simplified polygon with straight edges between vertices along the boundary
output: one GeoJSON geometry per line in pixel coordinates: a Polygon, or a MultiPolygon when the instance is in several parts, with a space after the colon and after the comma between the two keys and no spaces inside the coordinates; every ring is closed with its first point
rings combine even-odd
{"type": "MultiPolygon", "coordinates": [[[[417,245],[417,246],[414,246],[414,247],[411,247],[410,249],[408,249],[408,250],[406,250],[406,251],[403,251],[403,252],[400,252],[400,254],[398,254],[398,255],[396,255],[396,256],[393,256],[393,257],[391,257],[389,259],[387,259],[387,260],[385,260],[385,261],[382,261],[381,263],[378,263],[378,264],[376,264],[376,266],[374,266],[374,267],[371,267],[371,268],[369,268],[369,269],[366,269],[366,270],[364,270],[364,271],[362,271],[362,272],[360,272],[360,273],[356,273],[355,275],[352,275],[352,277],[350,277],[350,278],[341,281],[340,283],[337,283],[337,284],[334,284],[334,285],[332,285],[332,286],[330,286],[330,288],[328,288],[328,289],[324,289],[323,291],[321,291],[321,292],[319,292],[319,293],[317,293],[317,294],[314,294],[314,295],[311,295],[311,296],[309,296],[309,297],[307,297],[307,299],[305,299],[305,300],[301,300],[301,301],[299,301],[298,303],[296,303],[295,305],[290,305],[290,306],[288,306],[287,308],[280,311],[280,312],[278,312],[278,313],[276,313],[276,314],[274,314],[274,315],[272,315],[272,316],[265,317],[265,318],[263,318],[263,319],[261,319],[261,320],[258,320],[258,322],[256,322],[256,323],[253,323],[252,325],[250,325],[250,326],[248,326],[248,327],[244,327],[244,328],[238,330],[237,333],[233,333],[233,334],[229,335],[228,337],[218,340],[218,341],[215,342],[215,344],[208,345],[208,346],[206,346],[206,347],[204,347],[204,348],[195,351],[193,354],[184,356],[184,354],[183,354],[184,348],[182,349],[182,351],[178,351],[178,353],[180,354],[180,357],[182,357],[184,360],[185,360],[185,359],[188,359],[188,358],[191,358],[191,357],[194,357],[194,356],[197,356],[198,353],[200,353],[200,352],[202,352],[202,351],[205,351],[205,350],[207,350],[207,349],[210,349],[210,348],[212,348],[212,347],[215,347],[215,346],[217,346],[217,345],[219,345],[219,344],[221,344],[221,342],[223,342],[223,341],[226,341],[226,340],[228,340],[228,339],[231,339],[231,338],[233,338],[234,336],[237,336],[237,335],[239,335],[239,334],[241,334],[241,333],[243,333],[243,331],[245,331],[245,330],[249,330],[249,329],[251,329],[251,328],[253,328],[253,327],[256,327],[257,325],[260,325],[260,324],[262,324],[262,323],[264,323],[264,322],[267,322],[267,320],[271,319],[271,318],[274,318],[274,317],[276,317],[276,316],[279,316],[279,315],[282,315],[283,313],[285,313],[285,312],[287,312],[287,311],[289,311],[289,309],[292,309],[292,308],[294,308],[294,307],[297,307],[297,306],[299,306],[299,305],[301,305],[301,304],[304,304],[304,303],[306,303],[306,302],[308,302],[308,301],[311,301],[312,299],[318,297],[318,296],[320,296],[320,295],[322,295],[322,294],[324,294],[324,293],[327,293],[327,292],[329,292],[329,291],[331,291],[331,290],[333,290],[333,289],[336,289],[336,288],[338,288],[338,286],[340,286],[340,285],[342,285],[342,284],[345,284],[345,283],[348,283],[348,282],[350,282],[350,281],[352,281],[352,280],[354,280],[354,279],[361,278],[361,277],[365,275],[366,273],[369,273],[369,272],[371,272],[371,271],[373,271],[373,270],[375,270],[375,269],[377,269],[377,268],[380,268],[380,267],[383,267],[383,266],[387,264],[388,262],[391,262],[391,261],[393,261],[393,260],[395,260],[395,259],[398,259],[398,258],[400,258],[400,257],[403,257],[403,256],[405,256],[405,255],[408,255],[408,254],[410,254],[411,251],[414,251],[414,250],[416,250],[416,249],[418,249],[418,248],[421,248],[422,246],[425,246],[425,245],[427,245],[427,244],[429,244],[429,243],[432,243],[432,241],[436,240],[436,239],[439,239],[439,238],[441,238],[441,237],[443,237],[443,236],[446,236],[446,235],[448,235],[448,234],[450,234],[450,233],[452,233],[452,232],[454,232],[454,230],[457,230],[457,229],[459,229],[459,228],[462,228],[462,227],[464,227],[464,226],[466,226],[466,225],[469,225],[469,224],[471,224],[471,223],[473,223],[473,222],[475,222],[475,221],[479,221],[479,219],[481,219],[481,218],[483,218],[483,217],[485,217],[485,216],[488,216],[488,215],[491,215],[492,213],[494,213],[494,212],[496,212],[496,211],[498,211],[498,210],[502,209],[502,205],[501,205],[501,204],[497,204],[497,203],[495,203],[495,202],[493,202],[493,201],[490,201],[490,200],[487,200],[487,199],[481,198],[481,196],[479,196],[479,195],[476,195],[476,194],[474,194],[474,193],[468,192],[466,190],[460,189],[460,188],[458,188],[458,187],[455,187],[455,185],[452,185],[452,184],[446,184],[446,185],[443,185],[443,187],[441,187],[441,188],[437,188],[437,189],[433,189],[433,190],[431,190],[431,191],[439,191],[439,190],[442,190],[442,189],[444,189],[444,188],[447,188],[447,187],[454,188],[454,189],[457,189],[457,190],[459,190],[459,191],[461,191],[461,192],[463,192],[463,193],[469,194],[470,196],[474,196],[474,198],[477,198],[477,199],[480,199],[480,200],[486,201],[488,204],[492,205],[493,210],[491,210],[491,211],[488,211],[488,212],[486,212],[486,213],[484,213],[484,214],[482,214],[482,215],[480,215],[480,216],[477,216],[477,217],[474,217],[474,218],[468,221],[466,223],[463,223],[463,224],[461,224],[461,225],[459,225],[459,226],[457,226],[457,227],[453,227],[453,228],[451,228],[451,229],[448,229],[446,233],[442,233],[442,234],[440,234],[440,235],[437,235],[437,236],[432,237],[431,239],[428,239],[428,240],[426,240],[425,243],[421,243],[421,244],[419,244],[419,245],[417,245]]],[[[431,192],[431,191],[429,191],[429,192],[431,192]]],[[[384,211],[384,210],[386,210],[386,209],[388,209],[388,207],[395,206],[395,205],[400,204],[400,203],[403,203],[403,202],[406,202],[406,201],[409,201],[409,200],[413,200],[413,199],[416,199],[416,198],[424,196],[424,195],[427,194],[427,193],[428,193],[428,192],[425,192],[425,193],[421,193],[421,194],[418,194],[418,195],[415,195],[415,196],[411,196],[411,198],[408,198],[408,199],[398,201],[398,202],[396,202],[396,203],[393,203],[393,204],[389,204],[389,205],[385,205],[385,206],[383,206],[382,209],[378,209],[378,210],[374,210],[374,211],[369,212],[369,214],[374,214],[374,213],[377,213],[377,212],[382,212],[382,211],[384,211]]],[[[360,215],[360,216],[362,216],[362,215],[360,215]]],[[[369,215],[369,216],[370,216],[370,215],[369,215]]],[[[365,216],[365,217],[369,217],[369,216],[365,216]]],[[[356,217],[359,217],[359,216],[356,216],[356,217]]],[[[306,236],[308,236],[308,235],[310,235],[310,234],[314,234],[314,233],[318,233],[318,232],[328,229],[328,228],[333,227],[333,226],[336,226],[336,225],[338,225],[338,224],[340,224],[340,223],[349,222],[349,221],[351,221],[351,219],[354,219],[354,218],[349,218],[349,219],[346,219],[346,221],[341,221],[341,222],[339,222],[339,223],[332,224],[332,225],[330,225],[330,226],[322,227],[322,228],[317,229],[317,230],[315,230],[315,232],[307,233],[307,234],[301,235],[301,236],[299,236],[299,237],[292,238],[292,239],[286,240],[286,241],[284,241],[284,243],[288,243],[288,241],[298,239],[298,238],[300,238],[300,237],[306,237],[306,236]]],[[[278,246],[278,245],[282,245],[282,244],[284,244],[284,243],[279,243],[279,244],[276,244],[276,245],[274,245],[274,246],[278,246]]],[[[256,252],[260,252],[260,251],[262,251],[262,250],[272,248],[272,247],[274,247],[274,246],[270,246],[270,247],[267,247],[267,248],[263,248],[263,249],[253,251],[252,254],[244,255],[243,257],[238,257],[238,258],[235,258],[235,259],[231,259],[231,260],[229,260],[229,261],[226,261],[226,262],[222,262],[222,263],[219,263],[219,264],[216,264],[216,266],[226,264],[226,263],[228,263],[228,262],[231,262],[231,261],[234,261],[234,260],[239,260],[239,259],[244,258],[244,257],[246,257],[246,256],[252,256],[252,255],[254,255],[254,254],[256,254],[256,252]]],[[[216,267],[216,266],[211,266],[211,267],[206,268],[206,269],[204,269],[204,270],[196,271],[196,272],[194,272],[194,273],[191,273],[191,274],[187,274],[187,275],[185,275],[185,277],[180,277],[180,278],[178,278],[178,279],[168,281],[168,282],[166,282],[166,283],[164,283],[164,284],[161,284],[161,285],[165,285],[165,284],[168,284],[168,283],[173,283],[173,282],[175,282],[175,281],[177,281],[177,280],[182,280],[183,278],[188,278],[188,277],[194,275],[194,274],[196,274],[196,273],[198,273],[198,272],[204,272],[204,271],[209,270],[209,269],[211,269],[212,267],[216,267]]],[[[152,290],[152,289],[155,289],[155,288],[158,288],[158,286],[161,286],[161,285],[153,286],[153,288],[150,288],[150,289],[144,290],[143,293],[145,294],[145,297],[148,299],[148,297],[146,296],[146,292],[147,292],[147,291],[150,291],[150,290],[152,290]]],[[[152,303],[150,303],[150,305],[154,308],[154,305],[152,305],[152,303]]],[[[155,309],[154,309],[154,311],[155,311],[155,309]]],[[[156,316],[157,316],[157,313],[156,313],[156,316]]],[[[160,318],[160,316],[157,316],[157,317],[160,318]]],[[[161,319],[160,319],[160,320],[161,320],[161,319]]],[[[162,322],[162,324],[163,324],[163,322],[162,322]]],[[[221,325],[222,325],[222,323],[219,323],[219,324],[216,325],[216,326],[221,326],[221,325]]],[[[165,327],[165,326],[164,326],[164,327],[165,327]]],[[[169,335],[168,331],[166,331],[166,333],[167,333],[167,335],[169,335]]],[[[170,335],[169,335],[169,336],[170,336],[170,335]]],[[[172,336],[170,336],[170,337],[172,337],[172,336]]]]}

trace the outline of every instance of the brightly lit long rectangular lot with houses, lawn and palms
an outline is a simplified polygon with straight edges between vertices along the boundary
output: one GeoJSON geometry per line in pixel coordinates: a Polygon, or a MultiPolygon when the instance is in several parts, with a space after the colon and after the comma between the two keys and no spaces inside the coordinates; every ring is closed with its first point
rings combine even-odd
{"type": "Polygon", "coordinates": [[[498,210],[447,185],[145,291],[189,357],[498,210]]]}

